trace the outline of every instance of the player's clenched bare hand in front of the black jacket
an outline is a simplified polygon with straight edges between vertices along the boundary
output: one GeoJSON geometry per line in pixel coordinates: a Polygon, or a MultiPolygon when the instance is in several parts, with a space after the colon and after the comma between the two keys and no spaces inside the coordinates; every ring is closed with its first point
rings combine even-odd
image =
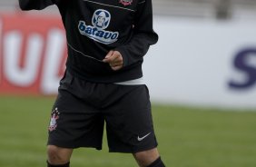
{"type": "Polygon", "coordinates": [[[117,71],[123,67],[123,56],[118,51],[110,51],[103,59],[103,62],[108,63],[113,71],[117,71]]]}

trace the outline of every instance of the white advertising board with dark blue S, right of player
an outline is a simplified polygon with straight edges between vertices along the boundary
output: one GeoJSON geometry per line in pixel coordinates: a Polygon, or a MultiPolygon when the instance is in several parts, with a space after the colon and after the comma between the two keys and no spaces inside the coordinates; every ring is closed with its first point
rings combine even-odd
{"type": "Polygon", "coordinates": [[[152,100],[256,108],[256,22],[158,16],[144,60],[152,100]]]}

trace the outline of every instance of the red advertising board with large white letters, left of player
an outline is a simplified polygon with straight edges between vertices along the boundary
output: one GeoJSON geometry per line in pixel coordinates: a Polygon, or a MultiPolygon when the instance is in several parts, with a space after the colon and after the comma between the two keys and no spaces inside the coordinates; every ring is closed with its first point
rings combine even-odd
{"type": "Polygon", "coordinates": [[[54,94],[66,38],[57,15],[0,15],[0,94],[54,94]]]}

